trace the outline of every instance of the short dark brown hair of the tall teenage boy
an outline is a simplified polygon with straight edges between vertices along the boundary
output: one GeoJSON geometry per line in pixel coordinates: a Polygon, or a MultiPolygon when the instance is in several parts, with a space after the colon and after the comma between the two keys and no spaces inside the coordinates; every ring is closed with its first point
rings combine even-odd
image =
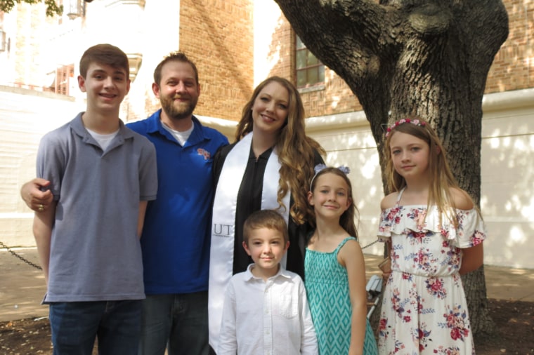
{"type": "Polygon", "coordinates": [[[79,74],[82,77],[85,78],[87,76],[87,70],[91,63],[110,65],[115,69],[124,69],[126,79],[129,79],[130,65],[128,56],[119,47],[103,43],[88,48],[79,60],[79,74]]]}

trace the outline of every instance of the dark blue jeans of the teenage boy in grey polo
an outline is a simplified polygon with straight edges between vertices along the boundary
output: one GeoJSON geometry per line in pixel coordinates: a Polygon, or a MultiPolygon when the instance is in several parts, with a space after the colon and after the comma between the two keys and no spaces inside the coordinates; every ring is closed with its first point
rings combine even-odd
{"type": "Polygon", "coordinates": [[[131,355],[141,334],[141,300],[53,302],[50,327],[54,355],[131,355]]]}

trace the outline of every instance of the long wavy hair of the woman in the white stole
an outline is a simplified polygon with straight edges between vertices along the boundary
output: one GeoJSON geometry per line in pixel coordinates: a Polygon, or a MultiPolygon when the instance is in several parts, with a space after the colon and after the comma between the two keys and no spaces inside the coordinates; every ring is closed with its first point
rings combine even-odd
{"type": "Polygon", "coordinates": [[[280,134],[275,143],[275,149],[280,160],[280,180],[278,181],[277,201],[282,208],[287,208],[282,199],[289,189],[294,199],[294,204],[289,210],[297,225],[306,222],[306,194],[311,178],[315,154],[325,155],[325,150],[306,135],[304,130],[304,105],[294,85],[280,76],[271,76],[262,81],[254,89],[249,102],[243,107],[241,120],[237,124],[236,140],[241,140],[247,133],[252,132],[254,121],[252,119],[252,107],[257,96],[269,83],[277,82],[284,86],[289,93],[289,105],[287,119],[280,128],[280,134]]]}

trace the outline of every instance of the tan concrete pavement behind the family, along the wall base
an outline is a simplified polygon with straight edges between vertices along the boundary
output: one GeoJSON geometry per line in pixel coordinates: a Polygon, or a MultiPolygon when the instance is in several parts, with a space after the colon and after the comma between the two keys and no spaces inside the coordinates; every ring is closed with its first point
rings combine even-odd
{"type": "MultiPolygon", "coordinates": [[[[39,264],[36,248],[13,250],[34,264],[39,264]]],[[[382,257],[365,255],[367,279],[379,274],[382,257]]],[[[534,302],[534,270],[484,267],[488,298],[534,302]]],[[[48,306],[41,305],[45,293],[41,270],[0,249],[0,322],[48,316],[48,306]]]]}

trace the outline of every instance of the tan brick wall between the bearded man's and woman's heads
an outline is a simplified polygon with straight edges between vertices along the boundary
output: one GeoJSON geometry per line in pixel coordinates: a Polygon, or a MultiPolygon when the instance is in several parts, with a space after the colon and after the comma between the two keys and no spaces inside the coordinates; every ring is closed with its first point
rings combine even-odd
{"type": "Polygon", "coordinates": [[[239,121],[254,85],[252,1],[182,0],[180,48],[195,61],[195,113],[239,121]]]}

